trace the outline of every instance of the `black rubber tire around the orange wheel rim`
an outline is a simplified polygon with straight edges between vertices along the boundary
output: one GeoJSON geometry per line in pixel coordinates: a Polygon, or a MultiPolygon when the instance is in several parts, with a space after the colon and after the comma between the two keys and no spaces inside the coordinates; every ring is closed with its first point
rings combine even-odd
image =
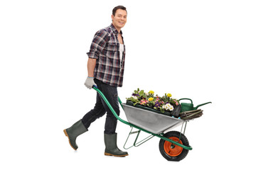
{"type": "MultiPolygon", "coordinates": [[[[181,142],[182,142],[182,144],[188,147],[188,146],[189,146],[188,139],[187,139],[186,136],[183,135],[183,133],[181,133],[181,132],[177,132],[177,131],[166,132],[166,133],[164,134],[164,137],[167,137],[167,138],[169,138],[169,137],[178,137],[178,138],[179,138],[180,135],[181,135],[181,142]]],[[[159,150],[160,150],[161,155],[162,155],[165,159],[167,159],[168,161],[179,162],[179,161],[181,161],[182,159],[184,159],[184,158],[186,157],[186,155],[188,154],[188,149],[182,149],[181,154],[178,154],[176,157],[171,157],[171,156],[170,156],[169,154],[167,154],[167,153],[165,152],[165,150],[164,150],[164,143],[165,143],[165,142],[168,142],[168,141],[162,140],[162,139],[159,141],[159,150]]],[[[177,146],[177,145],[174,145],[174,147],[178,147],[178,146],[177,146]]]]}

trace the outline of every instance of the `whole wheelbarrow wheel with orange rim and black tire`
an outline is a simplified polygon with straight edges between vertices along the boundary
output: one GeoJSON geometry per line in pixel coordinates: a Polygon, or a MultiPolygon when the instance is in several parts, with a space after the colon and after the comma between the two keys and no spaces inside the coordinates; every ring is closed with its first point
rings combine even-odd
{"type": "MultiPolygon", "coordinates": [[[[175,142],[180,143],[181,145],[189,146],[188,139],[181,132],[170,131],[164,134],[164,137],[167,137],[175,142]],[[181,135],[181,137],[180,137],[181,135]],[[179,140],[180,139],[180,140],[179,140]]],[[[172,144],[166,140],[161,139],[159,142],[159,150],[161,155],[168,161],[181,161],[188,154],[188,149],[183,149],[177,145],[172,144]]]]}

